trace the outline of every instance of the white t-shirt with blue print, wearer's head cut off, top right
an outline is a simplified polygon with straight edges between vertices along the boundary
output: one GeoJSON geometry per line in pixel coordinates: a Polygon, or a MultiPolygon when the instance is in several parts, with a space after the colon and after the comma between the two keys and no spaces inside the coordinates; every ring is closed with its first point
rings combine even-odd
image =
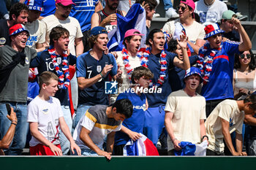
{"type": "Polygon", "coordinates": [[[217,23],[225,11],[227,5],[223,1],[215,0],[210,6],[206,6],[203,0],[195,2],[195,12],[200,16],[200,23],[217,23]]]}

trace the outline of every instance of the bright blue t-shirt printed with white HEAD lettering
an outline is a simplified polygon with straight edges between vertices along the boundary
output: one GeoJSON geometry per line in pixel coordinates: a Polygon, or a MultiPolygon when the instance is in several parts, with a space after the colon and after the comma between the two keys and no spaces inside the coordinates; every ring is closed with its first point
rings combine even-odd
{"type": "MultiPolygon", "coordinates": [[[[126,128],[129,128],[131,131],[135,131],[138,133],[143,133],[143,125],[145,119],[145,109],[146,109],[146,95],[141,93],[140,96],[136,93],[132,93],[131,91],[120,93],[116,100],[120,100],[123,98],[127,98],[132,102],[133,112],[132,117],[125,119],[122,125],[126,128]]],[[[115,145],[127,144],[129,141],[129,136],[124,134],[122,131],[117,131],[115,136],[115,145]]]]}

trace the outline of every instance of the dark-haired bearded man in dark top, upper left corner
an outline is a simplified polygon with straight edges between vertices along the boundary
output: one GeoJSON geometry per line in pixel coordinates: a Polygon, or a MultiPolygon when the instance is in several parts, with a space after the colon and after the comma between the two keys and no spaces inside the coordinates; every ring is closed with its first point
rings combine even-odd
{"type": "Polygon", "coordinates": [[[0,20],[0,46],[11,45],[9,28],[16,23],[25,25],[28,22],[29,8],[25,4],[16,3],[10,9],[10,20],[0,20]]]}

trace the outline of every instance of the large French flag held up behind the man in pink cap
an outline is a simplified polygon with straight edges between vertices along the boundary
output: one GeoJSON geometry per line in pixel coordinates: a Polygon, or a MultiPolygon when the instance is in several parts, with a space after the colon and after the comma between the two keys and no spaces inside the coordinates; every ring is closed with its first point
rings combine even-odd
{"type": "Polygon", "coordinates": [[[125,17],[116,14],[117,26],[108,33],[108,50],[121,51],[123,49],[124,34],[129,29],[138,29],[142,36],[141,47],[146,47],[146,12],[140,4],[133,4],[125,17]]]}

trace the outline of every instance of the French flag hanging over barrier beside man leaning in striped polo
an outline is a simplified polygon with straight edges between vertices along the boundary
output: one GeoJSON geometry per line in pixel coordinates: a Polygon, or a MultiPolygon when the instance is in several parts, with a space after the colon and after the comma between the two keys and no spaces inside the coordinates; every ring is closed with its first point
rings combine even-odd
{"type": "Polygon", "coordinates": [[[137,141],[132,141],[132,139],[127,142],[124,146],[125,156],[159,156],[157,147],[154,146],[153,142],[149,140],[145,135],[140,134],[140,139],[137,141]]]}

